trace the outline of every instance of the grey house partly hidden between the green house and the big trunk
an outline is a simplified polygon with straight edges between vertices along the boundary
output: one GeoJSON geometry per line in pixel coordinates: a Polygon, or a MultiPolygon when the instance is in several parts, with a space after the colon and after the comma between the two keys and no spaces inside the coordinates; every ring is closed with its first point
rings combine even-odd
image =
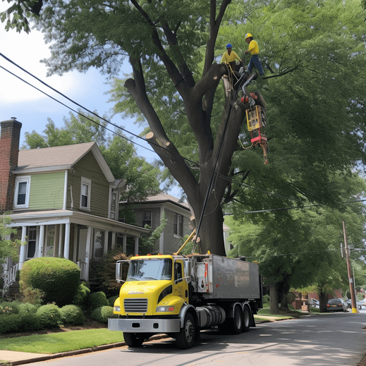
{"type": "Polygon", "coordinates": [[[145,202],[131,207],[136,215],[136,224],[144,227],[146,224],[152,230],[161,223],[165,214],[166,227],[154,250],[161,254],[176,252],[183,244],[183,237],[192,233],[188,226],[190,222],[190,209],[186,203],[179,202],[172,195],[160,193],[147,197],[145,202]]]}

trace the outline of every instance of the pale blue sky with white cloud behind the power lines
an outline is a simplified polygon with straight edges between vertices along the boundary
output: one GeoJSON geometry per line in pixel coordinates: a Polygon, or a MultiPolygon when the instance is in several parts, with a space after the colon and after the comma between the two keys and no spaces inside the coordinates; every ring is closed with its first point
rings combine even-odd
{"type": "MultiPolygon", "coordinates": [[[[7,2],[0,2],[0,11],[8,7],[7,2]]],[[[0,23],[0,52],[14,63],[24,68],[26,71],[37,76],[54,89],[67,95],[69,98],[85,106],[91,111],[97,111],[100,116],[111,115],[113,104],[108,102],[109,95],[105,92],[109,90],[106,85],[106,77],[101,75],[96,69],[90,69],[87,73],[73,71],[63,76],[47,77],[47,68],[39,60],[49,57],[48,45],[44,44],[42,33],[32,30],[29,35],[25,32],[17,33],[15,30],[4,30],[4,23],[0,23]]],[[[78,106],[63,99],[59,94],[37,82],[35,78],[27,75],[12,63],[0,56],[0,66],[18,75],[20,78],[35,85],[40,90],[51,94],[52,97],[59,99],[64,104],[78,109],[78,106]]],[[[57,127],[63,126],[63,117],[68,118],[70,109],[55,102],[41,92],[35,90],[30,85],[18,80],[15,76],[0,68],[0,120],[4,121],[11,117],[16,117],[23,123],[21,131],[20,145],[24,142],[24,133],[35,130],[42,134],[47,118],[51,118],[57,127]]],[[[130,73],[130,68],[126,66],[124,73],[130,73]]],[[[87,113],[87,112],[85,112],[87,113]]],[[[118,126],[123,126],[135,134],[139,134],[142,128],[136,126],[132,120],[122,119],[121,116],[114,116],[110,120],[118,126]]],[[[111,127],[113,130],[114,128],[111,127]]],[[[129,136],[130,137],[130,136],[129,136]]],[[[132,137],[131,137],[132,138],[132,137]]],[[[140,145],[149,147],[142,140],[137,141],[140,145]]],[[[139,156],[145,157],[152,162],[157,158],[153,152],[135,146],[139,156]]],[[[150,147],[149,147],[150,148],[150,147]]]]}

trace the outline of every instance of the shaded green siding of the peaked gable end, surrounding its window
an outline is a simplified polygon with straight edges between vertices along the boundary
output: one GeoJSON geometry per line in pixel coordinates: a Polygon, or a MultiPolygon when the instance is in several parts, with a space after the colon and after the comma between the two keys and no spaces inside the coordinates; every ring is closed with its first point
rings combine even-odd
{"type": "Polygon", "coordinates": [[[87,212],[95,216],[108,217],[109,182],[100,169],[92,152],[88,152],[68,171],[68,198],[67,209],[71,209],[71,190],[73,191],[73,210],[87,212]],[[90,196],[90,211],[80,209],[81,177],[92,181],[90,196]]]}

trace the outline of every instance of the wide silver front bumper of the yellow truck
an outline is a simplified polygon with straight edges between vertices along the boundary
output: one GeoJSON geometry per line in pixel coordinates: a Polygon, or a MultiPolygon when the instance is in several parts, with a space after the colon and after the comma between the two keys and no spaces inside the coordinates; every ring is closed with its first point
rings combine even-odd
{"type": "Polygon", "coordinates": [[[108,319],[110,331],[126,333],[177,333],[180,331],[179,319],[108,319]]]}

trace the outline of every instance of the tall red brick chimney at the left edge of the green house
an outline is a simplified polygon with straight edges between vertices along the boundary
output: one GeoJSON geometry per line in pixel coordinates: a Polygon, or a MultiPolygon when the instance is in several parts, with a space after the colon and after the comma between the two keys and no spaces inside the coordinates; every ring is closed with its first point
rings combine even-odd
{"type": "Polygon", "coordinates": [[[20,128],[16,118],[1,121],[0,135],[0,214],[13,209],[16,176],[12,173],[18,166],[20,128]]]}

